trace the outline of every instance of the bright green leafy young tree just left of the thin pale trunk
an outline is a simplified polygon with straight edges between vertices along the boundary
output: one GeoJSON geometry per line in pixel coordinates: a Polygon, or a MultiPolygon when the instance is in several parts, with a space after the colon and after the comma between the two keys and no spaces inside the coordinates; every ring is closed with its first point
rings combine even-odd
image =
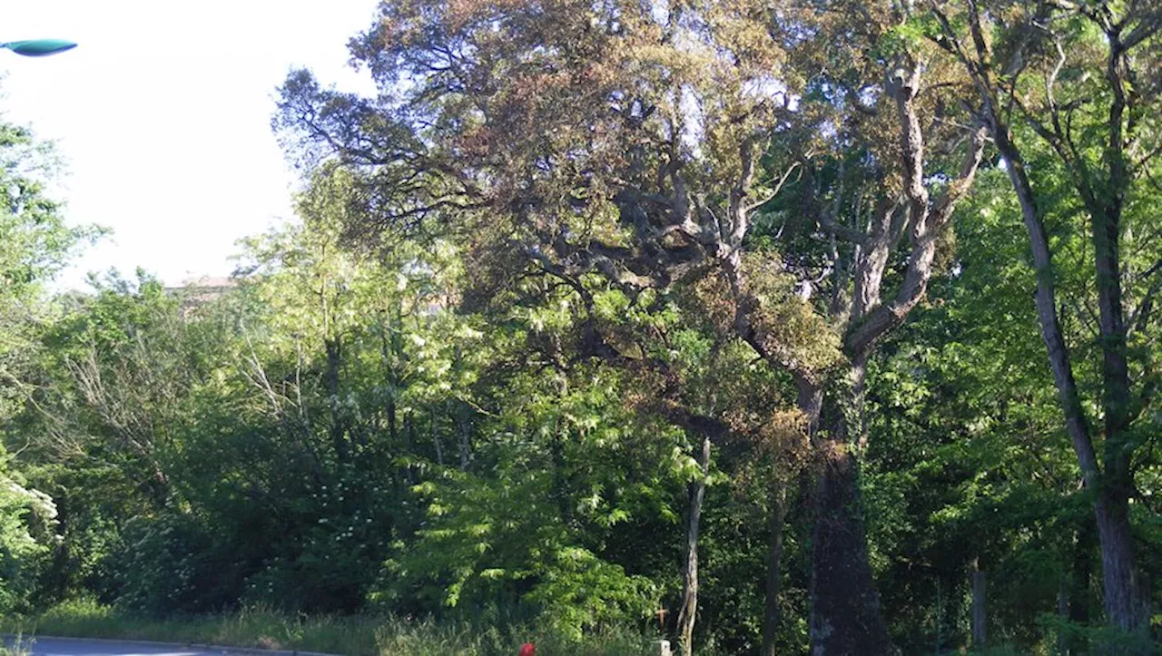
{"type": "Polygon", "coordinates": [[[564,396],[547,391],[571,388],[560,377],[515,381],[504,413],[483,428],[475,457],[488,466],[416,485],[428,518],[389,561],[379,598],[428,599],[429,611],[523,598],[574,635],[653,613],[655,585],[625,569],[637,563],[604,562],[594,549],[627,525],[676,519],[665,499],[684,460],[650,434],[664,427],[637,425],[619,406],[615,372],[576,376],[589,384],[564,396]]]}

